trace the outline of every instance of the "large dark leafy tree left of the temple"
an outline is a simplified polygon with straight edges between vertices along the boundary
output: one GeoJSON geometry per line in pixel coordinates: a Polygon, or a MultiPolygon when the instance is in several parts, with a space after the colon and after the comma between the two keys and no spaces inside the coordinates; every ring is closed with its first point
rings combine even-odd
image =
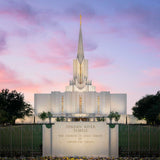
{"type": "Polygon", "coordinates": [[[0,92],[0,124],[15,124],[17,118],[31,116],[33,109],[24,101],[24,95],[13,90],[2,89],[0,92]]]}

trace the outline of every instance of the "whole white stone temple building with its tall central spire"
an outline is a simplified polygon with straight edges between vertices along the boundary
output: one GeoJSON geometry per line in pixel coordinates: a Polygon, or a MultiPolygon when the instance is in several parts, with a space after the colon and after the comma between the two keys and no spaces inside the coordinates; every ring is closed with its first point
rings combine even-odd
{"type": "Polygon", "coordinates": [[[84,56],[81,20],[77,57],[73,60],[73,79],[64,92],[36,93],[34,105],[36,115],[49,111],[53,117],[64,116],[70,121],[82,117],[87,121],[95,117],[107,117],[111,111],[127,114],[126,94],[96,92],[96,87],[88,80],[88,60],[84,56]]]}

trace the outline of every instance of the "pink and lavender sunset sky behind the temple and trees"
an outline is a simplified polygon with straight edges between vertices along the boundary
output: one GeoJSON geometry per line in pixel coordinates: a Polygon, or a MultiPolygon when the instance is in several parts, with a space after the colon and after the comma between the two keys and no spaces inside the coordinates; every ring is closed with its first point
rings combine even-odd
{"type": "Polygon", "coordinates": [[[127,94],[127,111],[160,90],[159,0],[0,0],[0,90],[65,91],[82,15],[96,90],[127,94]]]}

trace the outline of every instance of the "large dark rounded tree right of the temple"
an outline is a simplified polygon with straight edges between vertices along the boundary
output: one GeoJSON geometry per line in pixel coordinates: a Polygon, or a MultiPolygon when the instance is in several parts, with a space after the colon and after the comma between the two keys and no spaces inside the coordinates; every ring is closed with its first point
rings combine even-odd
{"type": "Polygon", "coordinates": [[[156,95],[146,95],[132,108],[133,115],[147,124],[160,124],[160,91],[156,95]]]}

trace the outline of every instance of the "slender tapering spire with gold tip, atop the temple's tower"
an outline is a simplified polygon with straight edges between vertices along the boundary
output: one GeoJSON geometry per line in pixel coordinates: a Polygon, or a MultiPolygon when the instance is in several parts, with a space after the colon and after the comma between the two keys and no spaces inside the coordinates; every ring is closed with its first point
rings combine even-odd
{"type": "Polygon", "coordinates": [[[77,59],[81,64],[84,59],[84,51],[83,51],[83,38],[82,38],[82,31],[81,31],[81,19],[82,16],[80,15],[80,30],[79,30],[79,41],[78,41],[78,52],[77,52],[77,59]]]}

